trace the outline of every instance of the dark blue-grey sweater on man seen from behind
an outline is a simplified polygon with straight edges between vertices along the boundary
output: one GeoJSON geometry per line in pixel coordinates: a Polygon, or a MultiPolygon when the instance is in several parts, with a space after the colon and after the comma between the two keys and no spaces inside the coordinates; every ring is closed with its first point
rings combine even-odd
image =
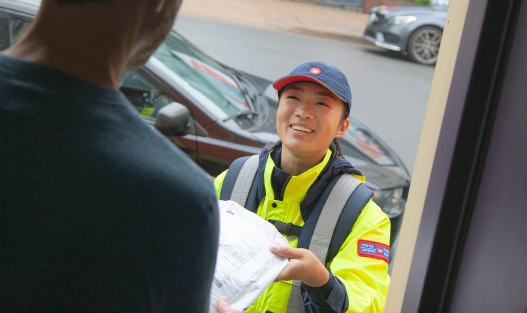
{"type": "Polygon", "coordinates": [[[207,312],[207,175],[121,93],[0,54],[0,310],[207,312]]]}

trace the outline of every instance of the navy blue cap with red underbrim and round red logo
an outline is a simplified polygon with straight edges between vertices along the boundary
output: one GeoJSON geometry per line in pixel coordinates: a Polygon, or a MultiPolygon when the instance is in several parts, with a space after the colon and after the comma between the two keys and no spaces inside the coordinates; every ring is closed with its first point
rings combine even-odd
{"type": "Polygon", "coordinates": [[[296,82],[313,82],[329,89],[337,97],[348,104],[348,110],[352,109],[352,90],[349,88],[346,75],[335,66],[329,66],[324,62],[308,62],[300,64],[292,70],[289,75],[275,80],[272,87],[280,90],[285,86],[296,82]]]}

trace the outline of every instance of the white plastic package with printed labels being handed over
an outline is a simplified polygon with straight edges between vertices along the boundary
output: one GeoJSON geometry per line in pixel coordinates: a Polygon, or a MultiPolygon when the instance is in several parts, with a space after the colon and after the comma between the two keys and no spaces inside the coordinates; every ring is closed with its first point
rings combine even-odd
{"type": "Polygon", "coordinates": [[[288,246],[275,226],[234,201],[218,201],[220,240],[210,291],[209,313],[217,313],[221,296],[245,310],[286,267],[289,260],[272,246],[288,246]]]}

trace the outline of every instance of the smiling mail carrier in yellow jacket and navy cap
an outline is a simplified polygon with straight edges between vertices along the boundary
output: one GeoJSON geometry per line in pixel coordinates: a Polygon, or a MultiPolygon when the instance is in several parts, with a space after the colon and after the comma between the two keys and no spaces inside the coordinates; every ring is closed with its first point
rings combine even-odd
{"type": "MultiPolygon", "coordinates": [[[[390,280],[390,222],[369,197],[354,204],[358,217],[349,223],[336,255],[327,260],[327,249],[319,249],[333,244],[330,241],[337,234],[334,228],[340,217],[337,214],[330,228],[320,219],[335,206],[350,206],[346,201],[335,205],[339,198],[350,201],[348,185],[338,188],[339,183],[331,182],[346,178],[346,184],[355,182],[357,187],[365,181],[334,143],[349,126],[348,80],[336,67],[309,62],[276,80],[273,87],[278,90],[280,140],[264,147],[257,157],[255,178],[249,183],[256,190],[251,191],[256,200],[241,205],[275,224],[288,238],[289,247],[271,250],[290,262],[245,312],[382,312],[390,280]],[[324,196],[329,186],[333,189],[324,196]],[[315,230],[307,231],[315,224],[315,230]],[[306,244],[307,236],[311,238],[306,244]]],[[[226,185],[238,188],[226,182],[230,170],[214,181],[218,195],[225,194],[226,185]]],[[[233,312],[224,299],[219,309],[233,312]]]]}

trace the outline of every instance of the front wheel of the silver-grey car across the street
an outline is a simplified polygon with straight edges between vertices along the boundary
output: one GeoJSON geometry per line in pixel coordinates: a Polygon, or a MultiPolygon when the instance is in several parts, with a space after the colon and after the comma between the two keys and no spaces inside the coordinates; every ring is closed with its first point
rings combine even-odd
{"type": "Polygon", "coordinates": [[[435,65],[443,31],[437,27],[418,28],[408,41],[408,56],[417,63],[435,65]]]}

